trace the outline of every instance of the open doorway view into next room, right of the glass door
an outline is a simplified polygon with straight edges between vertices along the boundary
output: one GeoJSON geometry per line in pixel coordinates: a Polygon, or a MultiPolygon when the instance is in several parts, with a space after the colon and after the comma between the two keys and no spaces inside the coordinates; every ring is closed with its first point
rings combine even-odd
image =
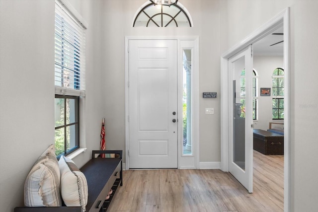
{"type": "MultiPolygon", "coordinates": [[[[255,132],[278,134],[277,142],[269,142],[267,153],[259,149],[258,140],[253,146],[253,186],[255,193],[272,200],[275,211],[284,211],[284,43],[278,43],[283,25],[253,44],[253,68],[258,71],[258,107],[255,132]],[[272,46],[273,44],[276,45],[272,46]],[[282,129],[282,131],[279,131],[282,129]],[[274,132],[272,132],[274,131],[274,132]],[[282,142],[281,142],[282,141],[282,142]],[[273,143],[273,144],[271,144],[273,143]],[[271,148],[270,146],[275,146],[271,148]],[[267,188],[264,190],[263,188],[267,188]],[[266,191],[270,190],[270,196],[266,191]]],[[[273,134],[274,135],[274,134],[273,134]]],[[[254,142],[254,141],[253,141],[254,142]]]]}

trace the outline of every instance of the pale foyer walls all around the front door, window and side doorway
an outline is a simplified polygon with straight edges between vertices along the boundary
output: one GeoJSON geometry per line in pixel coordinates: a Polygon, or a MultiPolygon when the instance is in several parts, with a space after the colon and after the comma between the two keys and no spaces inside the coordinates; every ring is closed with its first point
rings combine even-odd
{"type": "MultiPolygon", "coordinates": [[[[317,209],[317,0],[180,0],[194,27],[177,29],[132,28],[146,0],[70,2],[88,22],[88,149],[75,159],[79,166],[99,148],[102,116],[107,147],[125,149],[126,35],[200,36],[200,93],[218,92],[200,99],[200,162],[220,161],[220,55],[290,6],[291,204],[295,212],[317,209]]],[[[23,205],[25,177],[54,142],[54,0],[0,0],[0,47],[0,211],[9,212],[23,205]]]]}

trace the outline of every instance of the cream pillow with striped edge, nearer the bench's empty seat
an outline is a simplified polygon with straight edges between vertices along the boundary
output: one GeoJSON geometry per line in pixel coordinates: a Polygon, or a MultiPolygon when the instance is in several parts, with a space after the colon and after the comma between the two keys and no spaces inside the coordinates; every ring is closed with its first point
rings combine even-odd
{"type": "Polygon", "coordinates": [[[85,211],[88,188],[85,175],[69,158],[61,156],[61,195],[66,206],[80,206],[85,211]]]}

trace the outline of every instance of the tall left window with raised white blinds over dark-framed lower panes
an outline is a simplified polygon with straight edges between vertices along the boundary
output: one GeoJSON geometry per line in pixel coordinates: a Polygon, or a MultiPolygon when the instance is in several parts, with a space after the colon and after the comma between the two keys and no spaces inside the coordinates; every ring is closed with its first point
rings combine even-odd
{"type": "Polygon", "coordinates": [[[59,158],[79,149],[79,105],[85,95],[85,27],[67,1],[55,3],[55,154],[59,158]]]}

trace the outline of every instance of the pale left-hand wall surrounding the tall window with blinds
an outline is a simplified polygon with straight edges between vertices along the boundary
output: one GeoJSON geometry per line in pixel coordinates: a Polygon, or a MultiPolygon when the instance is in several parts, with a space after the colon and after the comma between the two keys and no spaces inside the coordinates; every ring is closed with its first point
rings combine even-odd
{"type": "MultiPolygon", "coordinates": [[[[99,149],[103,114],[100,1],[82,1],[86,34],[86,147],[99,149]]],[[[78,6],[78,5],[75,5],[78,6]]],[[[0,212],[23,206],[25,178],[54,143],[54,0],[0,0],[0,212]]]]}

